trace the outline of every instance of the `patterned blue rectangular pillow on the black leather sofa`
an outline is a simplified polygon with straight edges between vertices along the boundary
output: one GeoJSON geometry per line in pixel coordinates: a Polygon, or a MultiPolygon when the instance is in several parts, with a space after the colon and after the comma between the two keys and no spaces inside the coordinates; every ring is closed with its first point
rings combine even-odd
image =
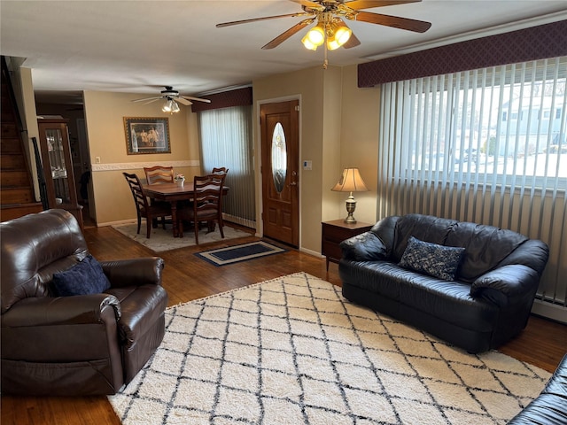
{"type": "Polygon", "coordinates": [[[423,242],[411,236],[399,265],[444,281],[454,281],[463,254],[464,248],[423,242]]]}

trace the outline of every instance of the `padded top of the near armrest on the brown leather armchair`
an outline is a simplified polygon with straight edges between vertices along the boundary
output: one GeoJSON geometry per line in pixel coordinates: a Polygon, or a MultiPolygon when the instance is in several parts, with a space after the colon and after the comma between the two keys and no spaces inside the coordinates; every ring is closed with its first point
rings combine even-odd
{"type": "Polygon", "coordinates": [[[110,294],[25,298],[2,315],[2,327],[78,325],[119,319],[120,302],[110,294]]]}

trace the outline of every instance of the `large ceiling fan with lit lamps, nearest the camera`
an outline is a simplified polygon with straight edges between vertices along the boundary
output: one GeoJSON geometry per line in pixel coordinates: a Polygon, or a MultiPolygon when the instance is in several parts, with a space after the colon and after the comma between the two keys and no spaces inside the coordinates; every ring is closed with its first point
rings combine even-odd
{"type": "MultiPolygon", "coordinates": [[[[369,9],[373,7],[391,6],[395,4],[417,3],[422,0],[290,0],[293,3],[301,4],[303,12],[289,13],[286,15],[267,16],[263,18],[253,18],[244,20],[235,20],[232,22],[224,22],[217,24],[216,27],[230,27],[232,25],[246,24],[249,22],[257,22],[267,19],[279,18],[295,18],[299,16],[307,16],[295,24],[293,27],[276,36],[271,42],[268,42],[262,49],[274,49],[282,42],[296,34],[304,27],[316,22],[305,37],[301,40],[307,49],[316,50],[318,46],[324,43],[325,52],[327,50],[335,50],[338,47],[350,49],[358,46],[361,42],[349,27],[346,26],[344,19],[358,20],[368,22],[370,24],[384,25],[386,27],[395,27],[414,31],[416,33],[424,33],[431,27],[430,22],[423,20],[400,18],[398,16],[384,15],[374,12],[363,12],[361,9],[369,9]]],[[[326,66],[327,59],[325,58],[326,66]]]]}

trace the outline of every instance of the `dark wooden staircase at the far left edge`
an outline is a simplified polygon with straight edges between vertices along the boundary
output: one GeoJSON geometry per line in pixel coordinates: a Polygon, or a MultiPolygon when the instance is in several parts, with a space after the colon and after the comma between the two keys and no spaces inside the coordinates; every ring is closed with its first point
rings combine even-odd
{"type": "Polygon", "coordinates": [[[0,104],[0,221],[12,220],[43,210],[35,202],[32,174],[29,171],[24,141],[17,120],[17,106],[11,96],[10,75],[2,58],[0,104]]]}

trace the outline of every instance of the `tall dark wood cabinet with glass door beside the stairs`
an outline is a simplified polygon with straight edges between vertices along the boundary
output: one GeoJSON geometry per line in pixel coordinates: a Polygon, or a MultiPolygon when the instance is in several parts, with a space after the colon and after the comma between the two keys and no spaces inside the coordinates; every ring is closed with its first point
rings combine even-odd
{"type": "Polygon", "coordinates": [[[48,205],[72,213],[82,228],[82,206],[77,202],[67,120],[37,120],[37,127],[48,205]]]}

